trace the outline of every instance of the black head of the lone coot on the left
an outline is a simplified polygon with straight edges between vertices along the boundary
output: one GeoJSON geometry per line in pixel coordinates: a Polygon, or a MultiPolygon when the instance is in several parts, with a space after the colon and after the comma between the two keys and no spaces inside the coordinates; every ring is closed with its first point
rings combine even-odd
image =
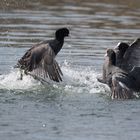
{"type": "Polygon", "coordinates": [[[69,36],[69,30],[67,28],[60,28],[55,32],[55,37],[58,40],[63,40],[66,36],[69,36]]]}

